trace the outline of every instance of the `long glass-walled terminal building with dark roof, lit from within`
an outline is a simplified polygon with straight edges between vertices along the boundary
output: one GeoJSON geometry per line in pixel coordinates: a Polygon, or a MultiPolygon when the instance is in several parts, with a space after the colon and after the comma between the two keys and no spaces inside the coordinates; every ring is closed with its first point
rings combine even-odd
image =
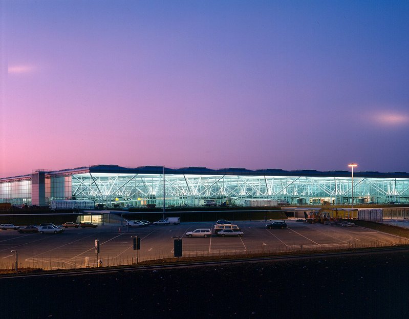
{"type": "Polygon", "coordinates": [[[408,204],[409,174],[354,172],[352,178],[350,171],[94,165],[0,179],[0,203],[49,206],[56,200],[108,207],[408,204]]]}

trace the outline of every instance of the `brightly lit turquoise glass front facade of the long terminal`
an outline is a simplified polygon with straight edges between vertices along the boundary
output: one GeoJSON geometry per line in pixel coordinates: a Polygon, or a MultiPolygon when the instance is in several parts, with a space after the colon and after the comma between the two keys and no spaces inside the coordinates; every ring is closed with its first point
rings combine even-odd
{"type": "MultiPolygon", "coordinates": [[[[289,204],[352,203],[352,178],[302,176],[165,175],[165,206],[203,206],[208,200],[241,205],[241,199],[289,204]]],[[[163,205],[163,174],[73,175],[76,199],[112,206],[163,205]]],[[[409,203],[409,179],[354,177],[354,204],[409,203]]]]}

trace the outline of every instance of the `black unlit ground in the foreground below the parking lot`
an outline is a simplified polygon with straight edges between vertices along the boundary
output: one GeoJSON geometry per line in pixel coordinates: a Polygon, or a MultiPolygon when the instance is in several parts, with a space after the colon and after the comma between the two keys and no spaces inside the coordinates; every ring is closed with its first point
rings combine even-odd
{"type": "Polygon", "coordinates": [[[409,251],[0,280],[7,318],[406,318],[409,251]]]}

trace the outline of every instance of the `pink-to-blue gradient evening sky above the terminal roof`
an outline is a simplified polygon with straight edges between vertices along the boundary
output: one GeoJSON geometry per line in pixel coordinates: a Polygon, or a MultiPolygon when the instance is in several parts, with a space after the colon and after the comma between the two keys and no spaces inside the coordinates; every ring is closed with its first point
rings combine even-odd
{"type": "Polygon", "coordinates": [[[409,172],[408,1],[0,0],[0,177],[409,172]]]}

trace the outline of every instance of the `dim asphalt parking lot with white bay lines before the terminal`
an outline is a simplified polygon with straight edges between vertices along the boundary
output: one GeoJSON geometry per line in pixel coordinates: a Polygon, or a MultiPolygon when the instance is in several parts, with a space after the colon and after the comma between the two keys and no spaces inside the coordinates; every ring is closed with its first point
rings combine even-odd
{"type": "Polygon", "coordinates": [[[20,234],[0,231],[0,269],[14,268],[17,250],[18,267],[71,269],[89,265],[98,259],[102,266],[125,265],[136,261],[132,236],[140,238],[138,261],[172,258],[174,239],[183,237],[183,257],[243,254],[257,252],[308,251],[323,249],[379,247],[407,243],[408,240],[353,226],[306,224],[288,220],[288,228],[266,229],[264,221],[236,222],[243,237],[186,238],[187,231],[212,228],[213,223],[150,225],[141,228],[107,224],[98,228],[68,228],[61,234],[20,234]],[[100,253],[95,253],[95,240],[100,253]],[[85,263],[87,260],[87,264],[85,263]]]}

